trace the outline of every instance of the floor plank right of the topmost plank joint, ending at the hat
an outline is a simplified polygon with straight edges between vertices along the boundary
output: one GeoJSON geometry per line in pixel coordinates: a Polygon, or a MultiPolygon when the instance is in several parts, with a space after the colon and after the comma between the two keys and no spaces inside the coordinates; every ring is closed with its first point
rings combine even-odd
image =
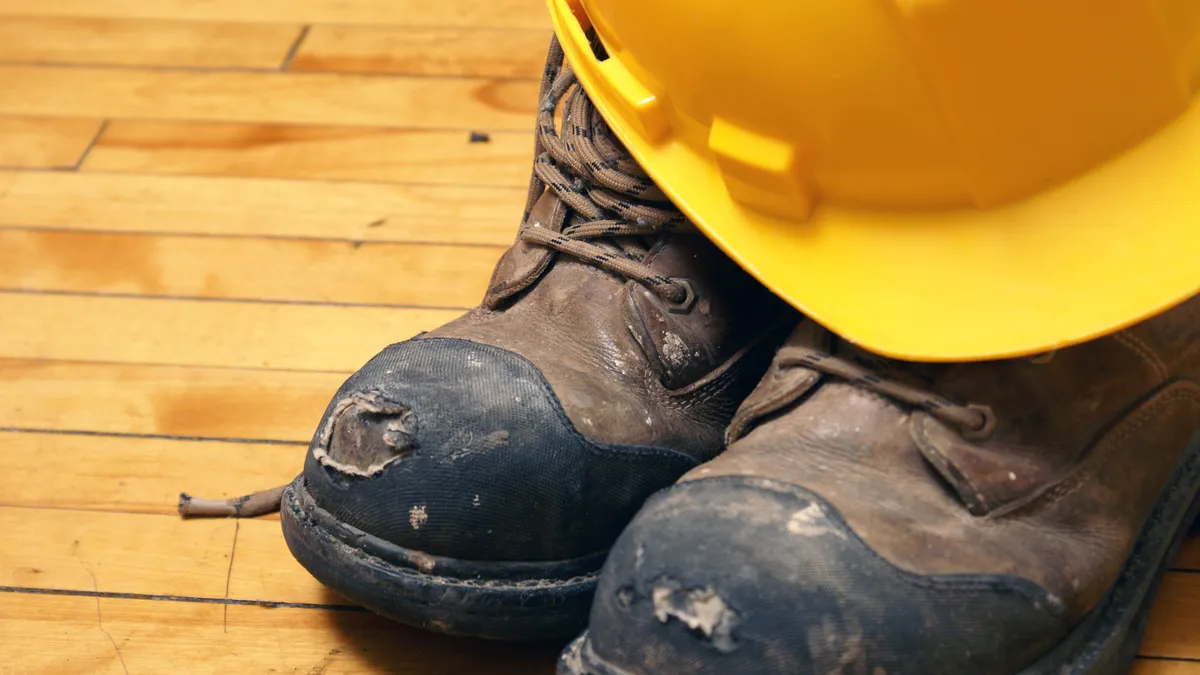
{"type": "Polygon", "coordinates": [[[550,32],[314,25],[292,71],[540,79],[550,32]]]}

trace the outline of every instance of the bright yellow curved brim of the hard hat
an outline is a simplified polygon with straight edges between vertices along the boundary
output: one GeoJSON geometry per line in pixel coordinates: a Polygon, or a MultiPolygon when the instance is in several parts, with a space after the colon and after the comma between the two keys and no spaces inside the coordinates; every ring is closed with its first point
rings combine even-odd
{"type": "MultiPolygon", "coordinates": [[[[551,2],[553,5],[553,0],[551,2]]],[[[551,12],[564,35],[563,17],[551,12]]],[[[1200,292],[1200,102],[1090,173],[991,209],[818,205],[788,222],[736,203],[716,160],[648,143],[568,59],[617,136],[718,246],[794,307],[894,358],[1027,356],[1082,342],[1200,292]]]]}

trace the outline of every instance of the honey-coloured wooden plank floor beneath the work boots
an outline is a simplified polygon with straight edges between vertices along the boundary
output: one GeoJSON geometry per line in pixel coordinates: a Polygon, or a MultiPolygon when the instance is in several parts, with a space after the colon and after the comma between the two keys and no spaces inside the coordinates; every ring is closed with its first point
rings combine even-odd
{"type": "MultiPolygon", "coordinates": [[[[0,673],[550,674],[322,589],[276,519],[347,374],[515,233],[541,0],[0,0],[0,673]],[[470,142],[473,131],[487,142],[470,142]]],[[[1200,675],[1200,544],[1140,675],[1200,675]]]]}

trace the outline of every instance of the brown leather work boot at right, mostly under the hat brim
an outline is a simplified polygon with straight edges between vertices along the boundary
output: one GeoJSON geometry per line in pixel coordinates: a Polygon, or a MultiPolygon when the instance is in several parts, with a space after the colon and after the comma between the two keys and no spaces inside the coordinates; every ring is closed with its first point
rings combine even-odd
{"type": "Polygon", "coordinates": [[[1124,673],[1196,513],[1200,297],[1039,358],[802,324],[613,546],[562,673],[1124,673]]]}

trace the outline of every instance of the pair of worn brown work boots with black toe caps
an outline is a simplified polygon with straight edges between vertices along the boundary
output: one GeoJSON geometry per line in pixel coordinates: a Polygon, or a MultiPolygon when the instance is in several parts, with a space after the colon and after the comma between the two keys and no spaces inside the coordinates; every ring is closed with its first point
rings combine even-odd
{"type": "Polygon", "coordinates": [[[300,562],[446,633],[587,626],[574,675],[1128,668],[1198,508],[1200,298],[1037,358],[871,354],[695,232],[559,62],[482,306],[330,404],[300,562]]]}

